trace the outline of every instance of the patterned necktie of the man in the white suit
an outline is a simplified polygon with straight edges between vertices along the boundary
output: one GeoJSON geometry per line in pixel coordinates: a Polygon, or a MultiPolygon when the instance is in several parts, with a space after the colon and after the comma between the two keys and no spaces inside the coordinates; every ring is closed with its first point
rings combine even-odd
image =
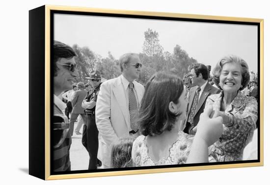
{"type": "Polygon", "coordinates": [[[136,118],[138,114],[138,105],[134,92],[134,84],[129,84],[129,111],[130,111],[130,127],[136,132],[138,126],[136,124],[136,118]]]}

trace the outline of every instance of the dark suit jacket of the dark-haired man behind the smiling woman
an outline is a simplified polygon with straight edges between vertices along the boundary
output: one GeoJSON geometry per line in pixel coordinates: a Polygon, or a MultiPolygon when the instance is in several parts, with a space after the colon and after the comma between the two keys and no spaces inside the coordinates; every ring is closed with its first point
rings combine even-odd
{"type": "Polygon", "coordinates": [[[201,94],[201,97],[198,101],[198,104],[197,104],[197,109],[196,109],[196,112],[195,112],[195,116],[194,116],[194,121],[193,121],[193,124],[190,125],[190,124],[187,124],[187,121],[189,120],[189,115],[190,115],[190,110],[191,110],[191,106],[192,106],[192,102],[193,102],[193,99],[194,99],[194,96],[195,96],[195,93],[196,93],[196,90],[197,90],[197,86],[195,87],[192,87],[190,88],[189,90],[189,104],[188,104],[188,107],[187,107],[187,119],[185,121],[186,123],[186,128],[184,129],[184,132],[187,133],[187,134],[195,134],[195,132],[192,132],[192,129],[198,124],[199,122],[199,119],[200,119],[200,115],[203,113],[203,110],[204,110],[204,107],[205,107],[205,103],[206,103],[206,99],[208,96],[210,96],[211,94],[216,94],[216,93],[219,93],[220,90],[219,89],[216,89],[215,87],[213,87],[212,85],[210,85],[208,82],[201,94]]]}

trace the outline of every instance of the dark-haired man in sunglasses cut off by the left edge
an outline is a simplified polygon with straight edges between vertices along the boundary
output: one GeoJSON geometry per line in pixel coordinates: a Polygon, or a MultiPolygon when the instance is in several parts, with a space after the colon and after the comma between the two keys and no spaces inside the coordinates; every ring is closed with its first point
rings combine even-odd
{"type": "Polygon", "coordinates": [[[74,78],[79,74],[75,64],[75,51],[64,43],[54,41],[54,132],[51,134],[53,149],[53,171],[70,171],[69,150],[71,134],[68,118],[63,114],[66,104],[59,99],[65,90],[71,90],[74,78]]]}

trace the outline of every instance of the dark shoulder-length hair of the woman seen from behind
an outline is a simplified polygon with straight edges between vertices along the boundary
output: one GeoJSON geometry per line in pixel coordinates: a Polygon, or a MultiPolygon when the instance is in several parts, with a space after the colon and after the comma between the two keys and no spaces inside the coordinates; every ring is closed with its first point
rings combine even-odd
{"type": "Polygon", "coordinates": [[[177,104],[183,90],[182,80],[173,74],[157,72],[148,80],[137,121],[142,135],[155,136],[172,129],[181,113],[172,113],[169,103],[177,104]]]}

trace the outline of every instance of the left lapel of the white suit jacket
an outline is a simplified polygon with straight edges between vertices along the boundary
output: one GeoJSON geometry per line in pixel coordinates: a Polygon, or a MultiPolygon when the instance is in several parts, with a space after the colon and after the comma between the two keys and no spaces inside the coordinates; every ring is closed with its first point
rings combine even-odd
{"type": "Polygon", "coordinates": [[[130,120],[129,120],[129,111],[127,109],[128,105],[127,105],[127,102],[126,102],[126,95],[125,95],[125,92],[124,92],[124,89],[123,89],[123,86],[121,84],[121,78],[119,77],[116,81],[116,83],[114,84],[113,86],[113,89],[112,89],[112,92],[113,94],[115,95],[115,98],[119,104],[119,107],[120,107],[120,110],[125,118],[125,121],[126,121],[126,124],[128,126],[128,128],[130,127],[129,124],[130,124],[130,120]]]}

